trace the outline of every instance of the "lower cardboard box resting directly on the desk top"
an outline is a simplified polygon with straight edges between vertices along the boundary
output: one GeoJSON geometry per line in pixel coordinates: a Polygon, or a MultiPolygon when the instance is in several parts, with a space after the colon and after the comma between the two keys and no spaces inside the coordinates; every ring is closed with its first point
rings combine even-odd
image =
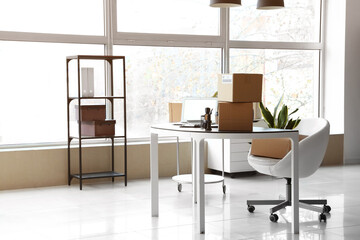
{"type": "Polygon", "coordinates": [[[253,129],[252,103],[218,103],[220,131],[251,132],[253,129]]]}

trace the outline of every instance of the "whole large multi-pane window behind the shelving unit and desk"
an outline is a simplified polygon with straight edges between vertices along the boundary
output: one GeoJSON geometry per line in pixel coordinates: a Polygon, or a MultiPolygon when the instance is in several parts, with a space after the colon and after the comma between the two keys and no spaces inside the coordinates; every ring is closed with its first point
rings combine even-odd
{"type": "Polygon", "coordinates": [[[266,106],[284,94],[301,117],[317,116],[321,1],[285,0],[284,9],[271,11],[256,10],[254,0],[230,11],[208,0],[4,1],[0,144],[65,142],[65,57],[104,48],[126,57],[130,138],[167,122],[169,102],[212,96],[224,70],[262,73],[266,106]]]}

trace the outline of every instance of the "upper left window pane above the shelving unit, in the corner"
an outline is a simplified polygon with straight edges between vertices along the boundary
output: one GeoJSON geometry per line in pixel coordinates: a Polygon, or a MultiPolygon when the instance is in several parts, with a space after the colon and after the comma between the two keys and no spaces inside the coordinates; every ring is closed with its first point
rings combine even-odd
{"type": "Polygon", "coordinates": [[[102,36],[103,0],[1,1],[0,31],[102,36]]]}

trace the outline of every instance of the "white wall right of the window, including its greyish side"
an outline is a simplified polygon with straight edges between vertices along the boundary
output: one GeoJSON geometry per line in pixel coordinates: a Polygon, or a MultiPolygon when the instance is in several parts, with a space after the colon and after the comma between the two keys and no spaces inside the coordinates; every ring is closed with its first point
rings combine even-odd
{"type": "Polygon", "coordinates": [[[360,1],[324,1],[323,113],[344,133],[344,163],[360,163],[360,1]]]}

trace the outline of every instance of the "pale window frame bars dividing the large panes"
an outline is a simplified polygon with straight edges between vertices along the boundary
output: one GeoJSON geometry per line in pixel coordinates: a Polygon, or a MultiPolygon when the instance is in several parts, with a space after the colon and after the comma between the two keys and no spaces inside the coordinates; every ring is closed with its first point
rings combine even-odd
{"type": "MultiPolygon", "coordinates": [[[[314,102],[318,117],[324,115],[324,10],[325,0],[320,0],[320,38],[319,42],[265,42],[265,41],[240,41],[230,40],[229,9],[221,8],[220,32],[213,35],[186,35],[186,34],[156,34],[156,33],[130,33],[117,31],[117,1],[103,0],[104,9],[104,36],[73,35],[73,34],[47,34],[31,32],[0,31],[0,41],[29,41],[51,43],[78,43],[78,44],[101,44],[104,45],[104,54],[112,55],[114,45],[125,46],[152,46],[152,47],[198,47],[198,48],[221,48],[221,72],[229,72],[230,48],[241,49],[286,49],[286,50],[318,50],[319,79],[317,80],[314,102]]],[[[129,142],[149,141],[147,138],[130,138],[129,142]]],[[[59,142],[54,145],[64,145],[59,142]]],[[[17,147],[49,146],[48,143],[16,144],[17,147]]],[[[52,143],[51,146],[54,146],[52,143]]],[[[0,147],[0,149],[6,148],[0,147]]]]}

